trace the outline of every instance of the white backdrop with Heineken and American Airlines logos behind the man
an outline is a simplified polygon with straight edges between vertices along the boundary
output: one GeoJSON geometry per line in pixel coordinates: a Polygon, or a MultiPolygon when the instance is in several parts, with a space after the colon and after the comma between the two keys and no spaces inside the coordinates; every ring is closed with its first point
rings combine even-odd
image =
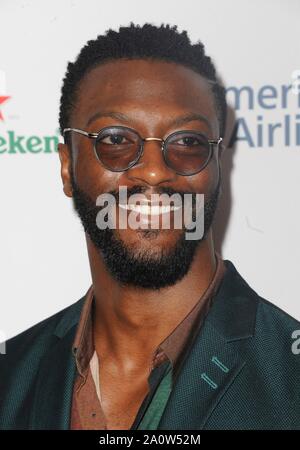
{"type": "Polygon", "coordinates": [[[217,241],[260,295],[300,319],[300,2],[0,0],[0,19],[4,336],[70,305],[91,284],[84,233],[62,192],[55,152],[60,88],[67,62],[87,40],[130,21],[177,24],[216,62],[240,121],[240,139],[224,156],[230,181],[217,241]]]}

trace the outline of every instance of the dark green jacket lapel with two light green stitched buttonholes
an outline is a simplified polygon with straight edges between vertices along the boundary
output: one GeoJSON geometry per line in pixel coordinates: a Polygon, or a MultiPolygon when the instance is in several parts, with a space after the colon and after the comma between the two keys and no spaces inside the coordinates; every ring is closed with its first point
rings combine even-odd
{"type": "Polygon", "coordinates": [[[185,355],[158,429],[205,428],[247,364],[258,300],[234,265],[225,263],[224,279],[202,330],[185,355]]]}

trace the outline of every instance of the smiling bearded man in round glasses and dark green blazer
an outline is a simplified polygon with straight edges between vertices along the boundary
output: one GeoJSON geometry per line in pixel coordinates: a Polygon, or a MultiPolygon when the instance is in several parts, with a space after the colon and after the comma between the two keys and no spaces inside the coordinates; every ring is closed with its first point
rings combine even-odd
{"type": "Polygon", "coordinates": [[[300,428],[300,324],[214,249],[225,122],[211,59],[176,26],[109,30],[69,63],[59,157],[92,286],[6,343],[1,429],[300,428]]]}

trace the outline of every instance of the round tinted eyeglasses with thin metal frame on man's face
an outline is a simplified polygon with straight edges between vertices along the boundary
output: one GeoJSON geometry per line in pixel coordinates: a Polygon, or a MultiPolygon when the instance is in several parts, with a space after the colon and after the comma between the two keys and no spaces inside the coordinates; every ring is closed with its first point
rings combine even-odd
{"type": "Polygon", "coordinates": [[[144,151],[146,141],[160,141],[163,158],[168,167],[179,175],[194,175],[203,170],[213,155],[214,146],[222,138],[207,139],[202,133],[181,130],[171,133],[166,139],[142,138],[132,128],[115,125],[102,128],[98,133],[88,133],[78,128],[65,128],[94,140],[94,152],[98,161],[113,172],[123,172],[133,167],[144,151]]]}

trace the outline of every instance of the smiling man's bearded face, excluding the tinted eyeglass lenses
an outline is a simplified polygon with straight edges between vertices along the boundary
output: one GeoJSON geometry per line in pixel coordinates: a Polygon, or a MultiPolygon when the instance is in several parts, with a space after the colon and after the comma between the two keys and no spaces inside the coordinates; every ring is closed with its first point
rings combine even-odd
{"type": "MultiPolygon", "coordinates": [[[[191,69],[161,61],[107,62],[92,69],[81,81],[70,126],[95,133],[112,125],[133,128],[143,138],[166,138],[179,130],[201,132],[208,139],[219,137],[208,82],[191,69]],[[102,113],[107,114],[100,116],[102,113]],[[174,123],[191,113],[204,119],[174,123]]],[[[212,222],[220,181],[218,153],[214,152],[201,172],[183,176],[166,165],[161,142],[147,141],[137,164],[113,172],[99,163],[90,139],[74,132],[70,137],[70,149],[63,144],[59,147],[64,191],[73,197],[88,238],[99,250],[108,271],[125,285],[160,289],[175,284],[189,270],[212,222]],[[116,229],[99,229],[96,199],[100,194],[112,193],[118,200],[120,187],[126,187],[128,196],[143,193],[149,199],[155,193],[204,194],[204,238],[187,240],[184,229],[120,229],[118,223],[116,229]]]]}

